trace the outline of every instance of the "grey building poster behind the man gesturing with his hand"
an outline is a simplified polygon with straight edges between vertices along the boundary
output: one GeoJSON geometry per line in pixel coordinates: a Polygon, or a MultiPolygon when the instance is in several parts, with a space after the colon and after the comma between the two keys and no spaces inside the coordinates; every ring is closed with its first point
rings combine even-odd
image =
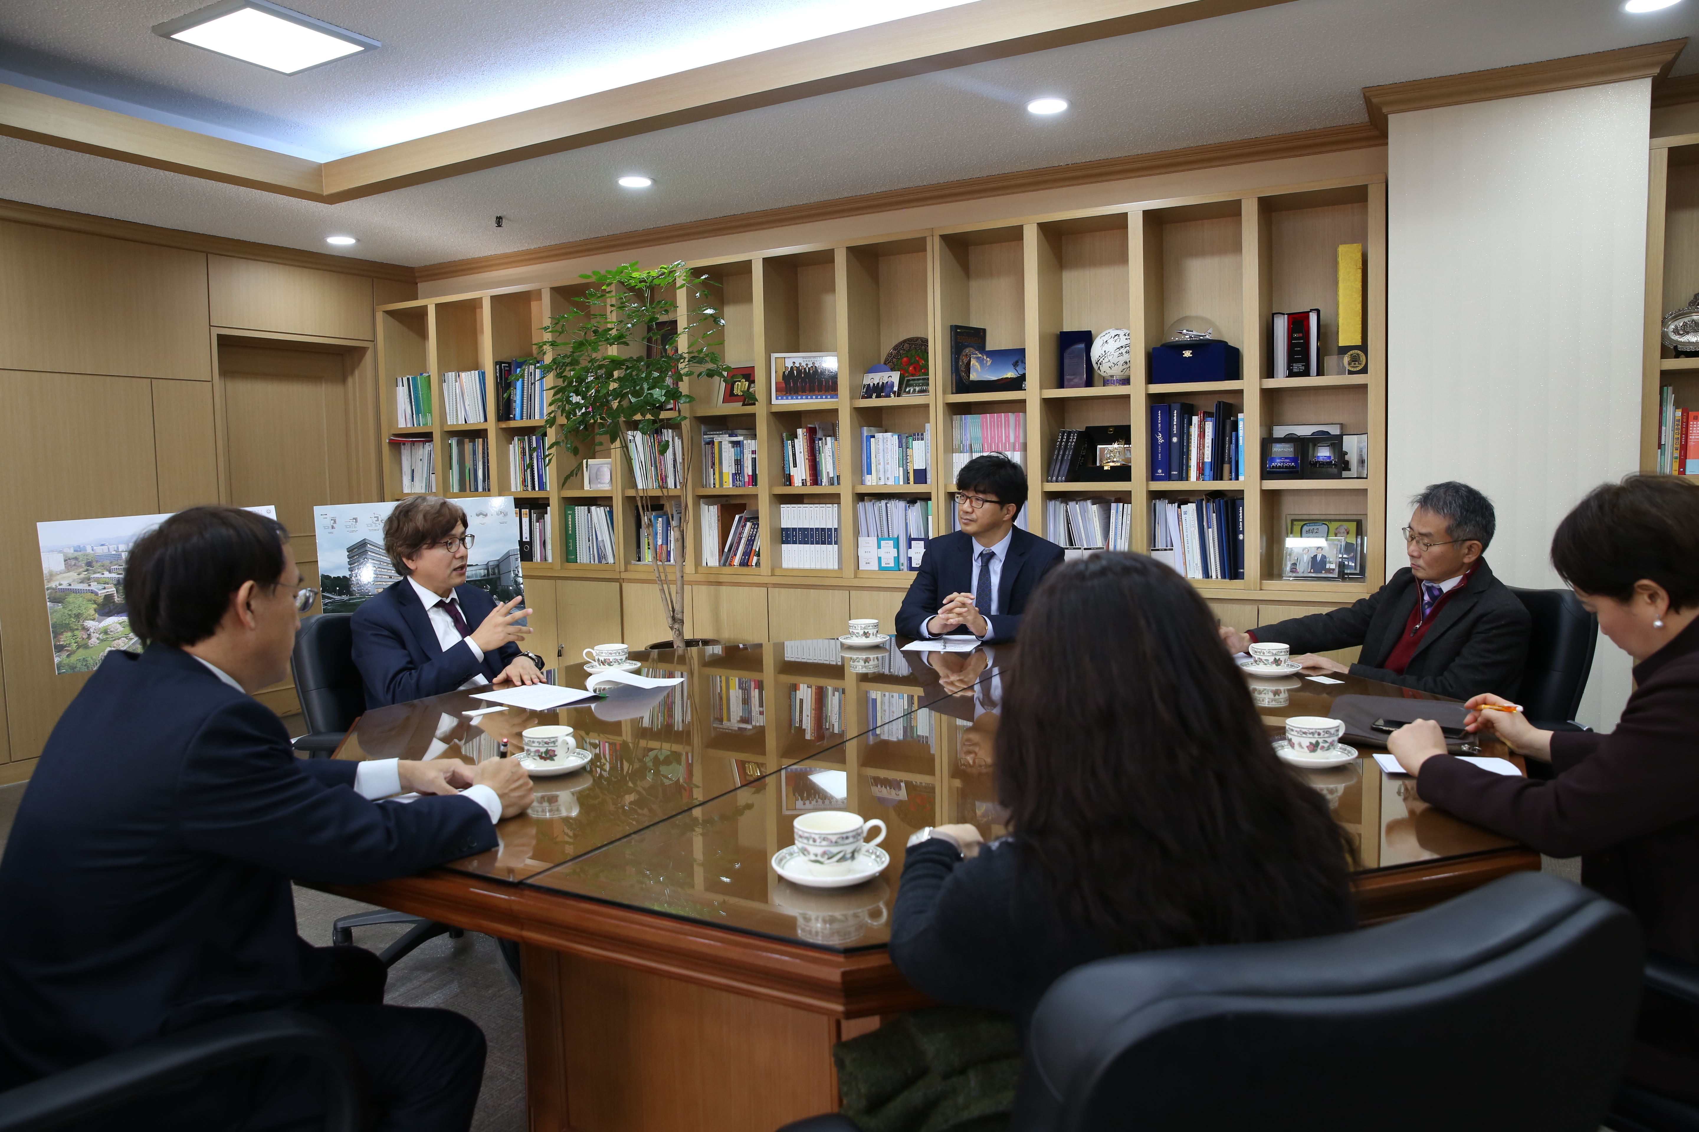
{"type": "MultiPolygon", "coordinates": [[[[496,601],[516,597],[525,580],[520,575],[520,523],[513,497],[454,502],[466,509],[466,530],[474,535],[466,562],[467,584],[489,591],[496,601]]],[[[313,507],[325,613],[353,613],[367,597],[401,580],[384,553],[384,519],[394,506],[347,502],[313,507]]]]}

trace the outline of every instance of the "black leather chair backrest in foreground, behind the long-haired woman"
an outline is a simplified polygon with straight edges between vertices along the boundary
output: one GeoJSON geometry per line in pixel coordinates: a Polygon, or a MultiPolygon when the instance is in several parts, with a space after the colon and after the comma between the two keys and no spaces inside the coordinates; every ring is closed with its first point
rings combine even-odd
{"type": "Polygon", "coordinates": [[[1013,1132],[1595,1132],[1640,925],[1521,872],[1395,923],[1075,967],[1033,1015],[1013,1132]]]}

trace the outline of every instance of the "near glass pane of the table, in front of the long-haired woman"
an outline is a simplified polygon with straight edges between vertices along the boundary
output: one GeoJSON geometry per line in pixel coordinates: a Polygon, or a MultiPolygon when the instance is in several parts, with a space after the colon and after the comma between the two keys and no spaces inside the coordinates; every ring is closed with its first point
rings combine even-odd
{"type": "MultiPolygon", "coordinates": [[[[974,677],[970,687],[940,682],[945,694],[923,694],[923,706],[885,726],[537,872],[527,884],[833,950],[883,947],[911,833],[953,821],[979,827],[985,838],[1008,832],[992,776],[1006,658],[999,665],[992,657],[982,672],[965,672],[962,679],[974,677]],[[782,877],[773,857],[792,845],[792,823],[810,810],[883,820],[880,849],[890,864],[873,879],[839,889],[782,877]]],[[[1286,703],[1259,704],[1269,735],[1278,735],[1288,716],[1329,715],[1334,699],[1346,694],[1431,699],[1358,677],[1286,684],[1296,684],[1286,687],[1286,703]]],[[[1342,767],[1293,772],[1327,798],[1351,833],[1359,874],[1514,845],[1434,810],[1415,793],[1414,779],[1381,774],[1369,750],[1358,748],[1363,757],[1342,767]]]]}

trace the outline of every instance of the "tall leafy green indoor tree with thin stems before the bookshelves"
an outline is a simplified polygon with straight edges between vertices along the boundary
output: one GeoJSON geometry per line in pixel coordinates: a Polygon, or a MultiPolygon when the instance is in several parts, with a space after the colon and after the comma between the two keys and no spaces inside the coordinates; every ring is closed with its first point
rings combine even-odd
{"type": "MultiPolygon", "coordinates": [[[[685,489],[695,445],[685,433],[683,407],[691,378],[724,378],[725,363],[710,348],[720,339],[725,317],[708,289],[707,275],[691,275],[683,263],[639,268],[624,263],[612,272],[590,272],[579,278],[591,287],[549,319],[537,358],[549,380],[549,460],[566,448],[578,463],[603,445],[625,451],[642,514],[671,507],[673,562],[661,562],[659,546],[651,555],[661,609],[673,633],[673,647],[685,647],[685,555],[690,545],[690,509],[685,489]],[[554,429],[559,428],[559,433],[554,429]],[[678,450],[675,453],[675,440],[678,450]],[[671,477],[656,463],[676,472],[671,477]],[[661,474],[658,474],[661,472],[661,474]],[[671,577],[666,567],[671,565],[671,577]]],[[[615,457],[617,458],[617,457],[615,457]]]]}

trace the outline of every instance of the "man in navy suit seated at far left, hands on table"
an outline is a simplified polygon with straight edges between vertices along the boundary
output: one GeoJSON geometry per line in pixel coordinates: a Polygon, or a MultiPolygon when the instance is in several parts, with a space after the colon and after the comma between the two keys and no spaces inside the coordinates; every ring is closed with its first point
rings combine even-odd
{"type": "MultiPolygon", "coordinates": [[[[148,648],[107,653],[66,708],[0,860],[0,1078],[289,1006],[348,1037],[379,1127],[464,1130],[483,1034],[384,1006],[374,954],[302,942],[289,879],[362,884],[494,849],[530,781],[516,760],[296,759],[251,696],[289,674],[313,601],[285,540],[250,511],[192,507],[129,553],[129,623],[148,648]],[[438,796],[372,801],[401,791],[438,796]]],[[[294,1125],[323,1115],[318,1074],[287,1059],[221,1071],[121,1125],[294,1125]]]]}

